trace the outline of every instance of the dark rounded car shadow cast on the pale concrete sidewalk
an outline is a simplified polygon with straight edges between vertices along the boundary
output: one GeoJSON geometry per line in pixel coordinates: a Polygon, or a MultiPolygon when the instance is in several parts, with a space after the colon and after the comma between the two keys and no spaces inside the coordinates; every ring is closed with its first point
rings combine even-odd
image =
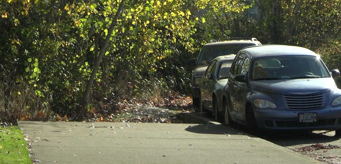
{"type": "Polygon", "coordinates": [[[241,132],[239,130],[232,129],[224,125],[214,125],[214,124],[202,124],[202,125],[189,126],[185,130],[192,132],[192,133],[201,133],[201,134],[247,135],[247,133],[241,132]]]}

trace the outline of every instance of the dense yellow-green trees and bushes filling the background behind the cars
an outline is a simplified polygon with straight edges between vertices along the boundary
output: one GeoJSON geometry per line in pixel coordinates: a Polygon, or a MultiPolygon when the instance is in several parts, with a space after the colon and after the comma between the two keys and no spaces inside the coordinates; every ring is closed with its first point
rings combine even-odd
{"type": "MultiPolygon", "coordinates": [[[[0,114],[15,119],[74,114],[120,3],[0,1],[0,114]]],[[[321,54],[329,69],[340,69],[340,3],[126,0],[89,100],[190,93],[193,68],[187,60],[222,37],[299,45],[321,54]],[[252,6],[258,8],[254,19],[247,17],[252,6]]]]}

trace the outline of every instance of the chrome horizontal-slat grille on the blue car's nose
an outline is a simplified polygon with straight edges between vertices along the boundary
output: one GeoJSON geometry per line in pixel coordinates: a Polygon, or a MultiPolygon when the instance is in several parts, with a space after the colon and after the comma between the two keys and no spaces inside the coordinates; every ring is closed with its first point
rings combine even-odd
{"type": "Polygon", "coordinates": [[[325,106],[325,94],[311,94],[311,95],[284,95],[283,101],[285,107],[288,109],[320,109],[325,106]]]}

